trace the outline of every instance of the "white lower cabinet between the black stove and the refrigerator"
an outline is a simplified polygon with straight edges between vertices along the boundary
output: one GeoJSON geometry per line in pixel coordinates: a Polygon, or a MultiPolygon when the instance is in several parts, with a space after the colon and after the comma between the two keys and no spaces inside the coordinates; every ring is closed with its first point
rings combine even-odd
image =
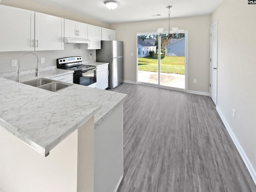
{"type": "Polygon", "coordinates": [[[108,88],[108,64],[97,67],[97,88],[108,88]]]}

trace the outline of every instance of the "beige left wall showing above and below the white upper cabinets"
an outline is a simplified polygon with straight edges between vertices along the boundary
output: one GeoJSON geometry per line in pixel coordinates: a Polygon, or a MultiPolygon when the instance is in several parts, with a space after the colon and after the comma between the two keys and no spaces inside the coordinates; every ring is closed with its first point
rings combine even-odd
{"type": "MultiPolygon", "coordinates": [[[[62,18],[67,18],[71,20],[76,20],[96,26],[101,26],[105,28],[109,28],[110,25],[100,22],[98,20],[94,20],[88,17],[84,17],[78,14],[73,14],[64,10],[59,10],[56,8],[52,8],[50,6],[46,6],[43,4],[39,4],[36,2],[31,2],[28,0],[1,0],[0,4],[13,6],[18,8],[23,8],[27,10],[33,10],[36,12],[42,12],[45,14],[50,14],[62,18]]],[[[2,29],[1,29],[2,30],[2,29]]],[[[17,59],[22,52],[0,52],[0,73],[5,72],[15,72],[16,67],[11,67],[11,60],[17,59]]],[[[44,64],[39,64],[39,68],[48,67],[48,66],[56,66],[56,59],[68,57],[68,56],[82,56],[83,60],[93,60],[89,55],[92,53],[94,58],[96,57],[95,50],[82,50],[80,49],[79,44],[64,44],[64,50],[53,50],[53,51],[35,51],[35,53],[39,56],[39,58],[45,58],[44,64]]],[[[36,58],[31,54],[28,54],[20,60],[21,62],[21,70],[33,69],[36,67],[36,58]]],[[[39,73],[40,75],[40,73],[39,73]]]]}

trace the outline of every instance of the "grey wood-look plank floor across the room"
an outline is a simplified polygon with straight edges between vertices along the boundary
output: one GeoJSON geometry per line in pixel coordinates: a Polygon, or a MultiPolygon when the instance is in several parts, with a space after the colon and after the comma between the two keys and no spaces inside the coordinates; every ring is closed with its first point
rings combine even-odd
{"type": "Polygon", "coordinates": [[[256,192],[208,96],[136,84],[124,102],[124,178],[118,192],[256,192]]]}

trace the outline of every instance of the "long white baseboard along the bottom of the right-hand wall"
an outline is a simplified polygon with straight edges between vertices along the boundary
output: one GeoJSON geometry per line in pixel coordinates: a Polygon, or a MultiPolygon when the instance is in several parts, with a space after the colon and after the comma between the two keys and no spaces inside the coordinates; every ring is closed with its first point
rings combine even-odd
{"type": "Polygon", "coordinates": [[[222,119],[231,139],[233,140],[240,156],[242,157],[242,159],[244,160],[244,164],[246,165],[250,175],[252,176],[252,180],[254,181],[254,183],[256,184],[256,171],[254,170],[250,160],[248,159],[246,153],[244,152],[242,146],[240,145],[240,143],[238,142],[235,134],[233,133],[232,129],[230,128],[228,122],[226,121],[224,115],[222,114],[220,108],[218,107],[218,105],[216,106],[216,110],[218,112],[218,114],[220,115],[220,118],[222,119]]]}

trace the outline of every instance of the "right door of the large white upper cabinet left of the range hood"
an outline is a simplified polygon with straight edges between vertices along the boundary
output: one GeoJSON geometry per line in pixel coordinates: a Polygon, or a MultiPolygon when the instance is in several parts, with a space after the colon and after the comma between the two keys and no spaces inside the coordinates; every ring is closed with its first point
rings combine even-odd
{"type": "Polygon", "coordinates": [[[35,50],[64,50],[64,18],[35,13],[35,50]]]}

